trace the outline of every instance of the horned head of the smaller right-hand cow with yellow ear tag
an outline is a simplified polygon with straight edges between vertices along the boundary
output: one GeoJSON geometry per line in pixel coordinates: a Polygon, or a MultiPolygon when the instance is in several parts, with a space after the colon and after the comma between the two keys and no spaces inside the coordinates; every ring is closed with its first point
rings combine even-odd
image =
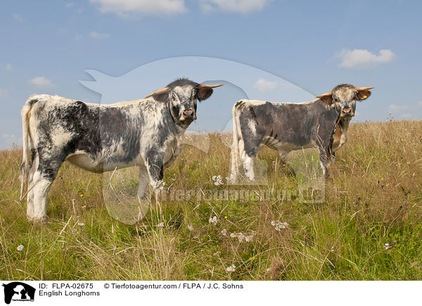
{"type": "Polygon", "coordinates": [[[333,106],[340,114],[340,118],[348,118],[354,116],[356,110],[356,101],[362,101],[371,96],[371,91],[374,87],[355,87],[350,84],[342,84],[333,88],[332,91],[326,94],[316,96],[321,101],[333,106]]]}

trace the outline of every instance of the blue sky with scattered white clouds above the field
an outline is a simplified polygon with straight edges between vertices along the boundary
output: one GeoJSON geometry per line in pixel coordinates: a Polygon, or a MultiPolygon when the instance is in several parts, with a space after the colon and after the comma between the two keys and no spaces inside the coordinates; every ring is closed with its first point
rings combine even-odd
{"type": "MultiPolygon", "coordinates": [[[[162,66],[145,77],[138,73],[130,95],[122,91],[127,87],[111,85],[113,101],[79,82],[94,80],[85,70],[124,77],[179,56],[220,58],[268,72],[265,78],[248,70],[249,86],[242,89],[252,92],[251,98],[284,98],[281,79],[302,89],[287,95],[295,102],[304,92],[321,94],[340,83],[375,86],[372,96],[358,103],[354,122],[386,120],[389,113],[421,119],[421,6],[419,1],[4,1],[0,148],[21,144],[20,108],[35,92],[112,103],[138,89],[141,98],[169,80],[189,77],[193,68],[203,77],[195,81],[209,79],[207,65],[188,62],[186,70],[177,71],[162,66]]],[[[226,75],[236,72],[227,65],[218,68],[221,77],[213,72],[210,79],[227,81],[226,75]]],[[[214,101],[203,103],[204,113],[211,108],[218,113],[215,99],[224,92],[230,107],[243,97],[227,88],[220,94],[216,89],[214,101]]],[[[200,120],[198,113],[198,125],[200,120]]],[[[220,127],[226,119],[215,120],[220,127]]]]}

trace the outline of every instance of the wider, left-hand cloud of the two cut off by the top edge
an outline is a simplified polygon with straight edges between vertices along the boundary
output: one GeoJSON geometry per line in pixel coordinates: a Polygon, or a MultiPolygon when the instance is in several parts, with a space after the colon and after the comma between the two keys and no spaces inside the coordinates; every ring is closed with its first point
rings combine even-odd
{"type": "Polygon", "coordinates": [[[184,0],[90,0],[102,13],[126,17],[130,13],[174,15],[187,11],[184,0]]]}

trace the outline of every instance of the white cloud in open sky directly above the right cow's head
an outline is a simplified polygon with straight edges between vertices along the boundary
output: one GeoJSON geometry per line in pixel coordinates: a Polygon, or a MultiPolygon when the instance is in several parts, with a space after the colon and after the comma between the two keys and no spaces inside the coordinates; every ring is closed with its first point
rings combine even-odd
{"type": "Polygon", "coordinates": [[[343,49],[338,53],[338,57],[343,59],[338,65],[339,67],[369,68],[382,63],[389,63],[396,56],[390,49],[382,49],[378,55],[365,49],[343,49]]]}

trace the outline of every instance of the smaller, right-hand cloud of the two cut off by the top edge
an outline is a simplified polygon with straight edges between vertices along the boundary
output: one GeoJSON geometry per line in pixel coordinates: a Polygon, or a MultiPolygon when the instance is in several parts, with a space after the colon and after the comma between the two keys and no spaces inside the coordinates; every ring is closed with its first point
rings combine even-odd
{"type": "Polygon", "coordinates": [[[231,13],[260,11],[272,0],[201,0],[203,11],[219,9],[231,13]]]}

